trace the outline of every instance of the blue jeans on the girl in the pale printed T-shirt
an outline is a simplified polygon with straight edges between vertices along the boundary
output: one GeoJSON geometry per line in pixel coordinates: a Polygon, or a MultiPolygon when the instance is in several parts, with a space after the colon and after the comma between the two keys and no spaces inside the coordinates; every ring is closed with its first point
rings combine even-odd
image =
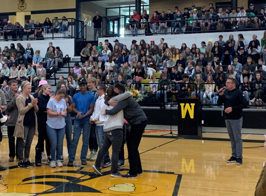
{"type": "Polygon", "coordinates": [[[51,160],[60,160],[63,154],[63,140],[65,137],[65,127],[54,129],[46,124],[47,135],[51,143],[51,160]]]}

